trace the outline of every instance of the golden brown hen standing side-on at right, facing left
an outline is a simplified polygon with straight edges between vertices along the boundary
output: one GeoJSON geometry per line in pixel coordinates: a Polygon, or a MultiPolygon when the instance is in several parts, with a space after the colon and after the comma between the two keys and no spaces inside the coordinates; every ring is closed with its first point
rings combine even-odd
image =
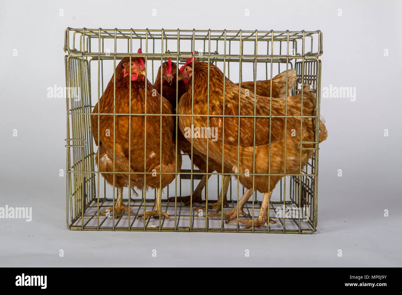
{"type": "MultiPolygon", "coordinates": [[[[288,96],[288,98],[267,98],[240,89],[240,114],[239,114],[239,88],[224,77],[222,71],[215,65],[194,61],[183,69],[183,78],[188,79],[187,93],[180,98],[177,106],[179,126],[182,132],[191,126],[193,91],[193,125],[198,128],[207,126],[207,112],[209,112],[209,126],[217,128],[218,140],[213,141],[208,137],[193,136],[195,149],[215,159],[218,163],[228,167],[247,191],[240,199],[238,205],[228,212],[226,222],[236,219],[247,224],[250,228],[263,226],[268,221],[268,205],[271,193],[283,174],[297,174],[300,167],[304,167],[314,153],[311,149],[314,144],[299,143],[314,142],[315,126],[314,118],[290,118],[285,116],[315,116],[316,99],[309,87],[304,87],[303,100],[301,95],[288,96]],[[194,71],[192,67],[194,66],[194,71]],[[207,104],[209,67],[209,105],[207,104]],[[194,88],[192,87],[194,83],[194,88]],[[225,93],[223,92],[225,83],[225,93]],[[223,100],[224,98],[224,100],[223,100]],[[225,115],[248,116],[223,117],[225,115]],[[204,116],[197,116],[204,115],[204,116]],[[254,126],[254,117],[255,126],[254,126]],[[302,122],[302,124],[301,124],[302,122]],[[254,132],[255,130],[255,136],[254,132]],[[238,134],[240,136],[238,136],[238,134]],[[224,145],[222,145],[224,142],[224,145]],[[222,150],[224,152],[222,157],[222,150]],[[254,153],[255,151],[255,153],[254,153]],[[255,155],[255,159],[254,159],[255,155]],[[255,164],[253,164],[255,163],[255,164]],[[237,174],[238,173],[238,174],[237,174]],[[256,174],[256,175],[253,175],[256,174]],[[261,175],[270,174],[270,175],[261,175]],[[256,220],[237,218],[242,214],[246,216],[242,208],[253,193],[253,189],[264,193],[261,209],[256,220]]],[[[320,142],[326,139],[327,131],[320,122],[320,142]]],[[[191,138],[188,138],[191,140],[191,138]]],[[[220,216],[219,213],[209,214],[220,216]]],[[[271,223],[275,223],[270,220],[271,223]]]]}

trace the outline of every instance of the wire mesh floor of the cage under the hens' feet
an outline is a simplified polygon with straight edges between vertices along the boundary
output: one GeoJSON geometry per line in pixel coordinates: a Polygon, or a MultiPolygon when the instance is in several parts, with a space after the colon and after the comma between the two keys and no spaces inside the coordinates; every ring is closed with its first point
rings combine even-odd
{"type": "MultiPolygon", "coordinates": [[[[128,203],[128,199],[123,199],[125,203],[128,203]]],[[[146,211],[153,210],[155,207],[156,200],[147,200],[146,201],[146,211]]],[[[230,201],[229,207],[224,207],[224,211],[231,210],[236,206],[236,201],[230,201]]],[[[100,208],[103,210],[105,208],[109,208],[113,205],[112,199],[105,199],[100,201],[100,208]]],[[[304,214],[301,214],[301,220],[299,220],[299,211],[298,208],[294,205],[287,205],[286,214],[289,216],[293,215],[295,218],[285,217],[286,224],[283,222],[281,218],[275,218],[275,214],[277,214],[278,210],[275,209],[275,205],[271,203],[270,208],[270,216],[272,220],[277,221],[276,224],[270,224],[270,232],[288,232],[294,231],[298,232],[298,224],[301,222],[301,231],[304,233],[311,233],[311,226],[308,224],[308,217],[304,214]],[[296,218],[297,217],[297,218],[296,218]],[[306,222],[306,224],[304,224],[306,222]]],[[[205,216],[201,215],[198,212],[194,212],[195,210],[190,210],[189,206],[183,206],[183,203],[179,203],[176,206],[177,216],[175,217],[175,205],[174,202],[171,201],[162,201],[162,211],[166,212],[170,215],[171,221],[168,221],[166,217],[162,216],[162,220],[159,223],[159,218],[148,218],[145,222],[144,226],[144,218],[135,218],[135,216],[131,215],[129,218],[128,214],[120,216],[119,218],[113,220],[113,214],[110,216],[100,215],[98,219],[97,215],[97,200],[93,201],[85,211],[84,218],[78,218],[78,220],[72,225],[73,229],[90,229],[90,230],[133,230],[133,231],[142,231],[142,230],[156,230],[159,231],[159,228],[162,231],[178,231],[178,232],[242,232],[249,230],[244,230],[242,227],[244,225],[240,224],[237,226],[236,222],[229,222],[226,224],[225,217],[223,222],[221,218],[217,217],[207,217],[207,221],[205,221],[205,216]],[[193,211],[193,214],[191,214],[193,211]],[[98,225],[99,222],[99,225],[98,225]],[[221,230],[222,228],[222,230],[221,230]]],[[[131,209],[134,210],[136,214],[144,211],[144,201],[143,199],[134,199],[131,201],[131,209]]],[[[193,207],[194,209],[194,207],[193,207]]],[[[258,214],[260,210],[260,201],[256,201],[254,203],[254,214],[258,214]]],[[[215,211],[215,210],[209,210],[215,211]]],[[[246,203],[244,206],[244,211],[252,216],[252,202],[246,203]]],[[[205,212],[204,212],[205,214],[205,212]]],[[[286,215],[285,215],[286,216],[286,215]]],[[[255,218],[258,216],[255,215],[255,218]]],[[[244,216],[239,216],[239,218],[245,218],[244,216]]],[[[265,226],[260,226],[254,229],[254,232],[268,232],[267,224],[265,226]]]]}

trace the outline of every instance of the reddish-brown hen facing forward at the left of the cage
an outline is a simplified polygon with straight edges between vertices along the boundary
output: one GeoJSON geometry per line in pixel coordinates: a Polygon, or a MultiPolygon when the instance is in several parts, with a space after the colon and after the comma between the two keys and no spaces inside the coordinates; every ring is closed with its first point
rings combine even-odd
{"type": "MultiPolygon", "coordinates": [[[[141,49],[138,53],[141,53],[141,49]]],[[[157,189],[156,206],[155,210],[141,214],[144,220],[159,215],[170,220],[168,214],[161,212],[160,198],[162,189],[172,182],[181,167],[181,155],[178,154],[176,163],[172,141],[174,117],[131,115],[130,120],[128,115],[102,115],[130,113],[130,86],[131,114],[145,114],[145,110],[146,114],[172,114],[168,100],[160,95],[152,95],[153,85],[145,77],[144,59],[123,58],[116,67],[115,79],[112,77],[109,81],[91,116],[92,134],[98,145],[96,165],[100,172],[106,172],[102,173],[106,181],[119,189],[114,207],[107,210],[113,211],[115,217],[129,211],[122,201],[123,187],[140,190],[150,187],[157,189]],[[134,174],[127,174],[129,172],[134,174]],[[166,174],[158,174],[160,172],[166,174]]],[[[107,210],[100,213],[106,213],[107,210]]],[[[130,212],[134,213],[132,210],[130,212]]]]}

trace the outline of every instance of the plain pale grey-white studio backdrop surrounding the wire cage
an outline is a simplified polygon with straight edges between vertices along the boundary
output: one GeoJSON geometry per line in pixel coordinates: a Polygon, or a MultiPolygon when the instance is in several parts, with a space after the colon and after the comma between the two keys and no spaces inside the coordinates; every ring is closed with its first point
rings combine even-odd
{"type": "Polygon", "coordinates": [[[33,208],[31,222],[0,219],[2,266],[402,266],[401,9],[398,1],[2,1],[0,207],[33,208]],[[329,137],[320,145],[318,232],[67,230],[66,102],[47,98],[47,87],[65,85],[68,26],[321,30],[322,87],[357,92],[354,102],[321,101],[329,137]]]}

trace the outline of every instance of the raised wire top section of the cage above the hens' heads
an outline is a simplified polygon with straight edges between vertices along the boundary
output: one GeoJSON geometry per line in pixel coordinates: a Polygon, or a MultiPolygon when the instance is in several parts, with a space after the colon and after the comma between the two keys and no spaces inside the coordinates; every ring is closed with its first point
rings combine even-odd
{"type": "MultiPolygon", "coordinates": [[[[266,41],[266,42],[295,42],[297,40],[302,40],[303,44],[306,42],[306,38],[311,39],[311,51],[304,52],[304,48],[302,49],[302,53],[300,55],[291,55],[289,54],[289,49],[287,50],[286,54],[281,54],[280,56],[290,57],[290,58],[300,58],[307,56],[310,59],[318,59],[319,56],[323,54],[322,50],[322,32],[320,30],[317,31],[242,31],[242,30],[165,30],[165,29],[103,29],[103,28],[66,28],[65,31],[65,39],[64,39],[64,52],[68,53],[69,55],[77,55],[77,56],[87,56],[87,57],[103,57],[105,53],[91,53],[90,50],[88,51],[88,46],[84,47],[84,44],[88,44],[90,39],[98,39],[99,40],[99,51],[100,51],[100,40],[103,39],[127,39],[135,40],[135,39],[145,39],[145,40],[201,40],[201,41],[266,41]],[[79,35],[79,47],[76,46],[76,35],[79,35]],[[70,44],[70,39],[72,39],[72,44],[70,44]],[[84,41],[85,40],[85,41],[84,41]],[[313,51],[313,40],[317,40],[317,48],[316,52],[313,51]],[[72,45],[72,47],[70,46],[72,45]]],[[[152,59],[152,53],[148,52],[148,45],[144,48],[144,53],[141,56],[146,55],[148,58],[152,59]]],[[[315,51],[315,50],[314,50],[315,51]]],[[[129,52],[129,50],[128,50],[129,52]]],[[[174,57],[175,55],[173,52],[166,51],[168,53],[166,58],[169,56],[174,57]]],[[[113,55],[116,57],[124,57],[127,54],[136,56],[136,52],[131,51],[130,53],[110,53],[107,56],[113,55]]],[[[176,52],[176,55],[178,53],[176,52]]],[[[157,54],[156,57],[160,58],[160,53],[157,54]]],[[[208,55],[211,55],[209,52],[208,55]]],[[[212,53],[213,55],[213,53],[212,53]]],[[[228,55],[228,54],[225,54],[228,55]]],[[[259,57],[264,57],[265,55],[256,54],[259,57]]],[[[138,55],[139,56],[139,55],[138,55]]],[[[232,56],[232,55],[231,55],[232,56]]],[[[237,57],[238,55],[236,55],[237,57]]],[[[273,55],[267,54],[269,57],[273,57],[273,55]]],[[[276,55],[275,55],[276,56],[276,55]]],[[[165,56],[164,56],[165,57],[165,56]]],[[[240,55],[239,55],[240,57],[240,55]]],[[[242,57],[242,55],[241,55],[242,57]]]]}

